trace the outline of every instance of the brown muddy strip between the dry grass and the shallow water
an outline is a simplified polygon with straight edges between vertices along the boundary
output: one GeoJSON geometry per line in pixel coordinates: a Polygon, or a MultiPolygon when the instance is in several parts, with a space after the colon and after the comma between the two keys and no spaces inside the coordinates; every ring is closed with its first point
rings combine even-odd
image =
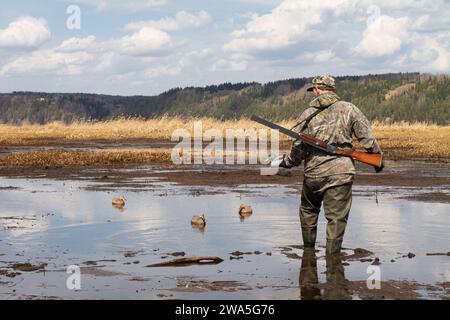
{"type": "MultiPolygon", "coordinates": [[[[303,181],[303,170],[295,168],[277,175],[261,175],[262,166],[91,166],[88,168],[17,168],[0,167],[0,176],[6,178],[46,178],[56,180],[104,180],[120,183],[136,178],[159,178],[180,185],[236,186],[243,184],[299,184],[303,181]]],[[[386,169],[381,174],[370,168],[358,171],[355,185],[397,187],[439,187],[450,185],[448,172],[428,174],[417,169],[386,169]]],[[[10,188],[10,187],[5,187],[10,188]]],[[[442,198],[445,194],[428,194],[428,198],[442,198]]],[[[426,198],[426,197],[425,197],[426,198]]]]}

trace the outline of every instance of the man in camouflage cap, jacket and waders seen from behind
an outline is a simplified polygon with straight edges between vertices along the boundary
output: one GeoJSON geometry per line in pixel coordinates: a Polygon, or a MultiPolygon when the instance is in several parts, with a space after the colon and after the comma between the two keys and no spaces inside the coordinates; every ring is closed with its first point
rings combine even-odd
{"type": "MultiPolygon", "coordinates": [[[[303,123],[304,133],[326,141],[338,148],[351,149],[352,135],[369,153],[381,153],[370,123],[353,104],[342,101],[335,93],[335,80],[330,76],[316,77],[308,91],[316,98],[300,116],[300,121],[316,113],[303,123]],[[320,113],[317,113],[321,110],[320,113]]],[[[300,126],[301,127],[301,126],[300,126]]],[[[292,168],[305,161],[305,179],[300,205],[300,222],[305,248],[316,243],[317,221],[324,205],[327,224],[326,254],[341,250],[345,227],[352,204],[352,184],[355,175],[354,160],[331,155],[297,140],[291,152],[283,156],[280,167],[292,168]]],[[[383,169],[377,169],[377,172],[383,169]]]]}

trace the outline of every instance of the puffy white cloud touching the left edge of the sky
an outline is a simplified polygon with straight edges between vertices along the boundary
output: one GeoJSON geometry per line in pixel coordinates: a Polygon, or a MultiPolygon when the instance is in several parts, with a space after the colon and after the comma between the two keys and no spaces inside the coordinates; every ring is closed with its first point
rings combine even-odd
{"type": "Polygon", "coordinates": [[[0,29],[0,47],[33,48],[50,38],[47,21],[42,18],[20,17],[7,28],[0,29]]]}

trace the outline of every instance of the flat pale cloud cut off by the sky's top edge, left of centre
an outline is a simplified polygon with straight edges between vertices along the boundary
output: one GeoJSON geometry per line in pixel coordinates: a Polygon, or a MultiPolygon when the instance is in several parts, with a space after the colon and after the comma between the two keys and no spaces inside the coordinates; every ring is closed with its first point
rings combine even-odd
{"type": "Polygon", "coordinates": [[[100,12],[113,11],[119,13],[151,10],[166,4],[166,0],[78,0],[76,2],[95,6],[97,11],[100,12]]]}

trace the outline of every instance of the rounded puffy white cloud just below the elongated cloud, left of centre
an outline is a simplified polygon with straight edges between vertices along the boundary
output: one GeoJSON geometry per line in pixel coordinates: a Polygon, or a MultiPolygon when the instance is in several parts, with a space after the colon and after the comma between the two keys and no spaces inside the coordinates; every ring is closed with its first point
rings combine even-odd
{"type": "Polygon", "coordinates": [[[144,27],[117,41],[120,52],[132,56],[151,55],[171,44],[170,36],[159,29],[144,27]]]}

